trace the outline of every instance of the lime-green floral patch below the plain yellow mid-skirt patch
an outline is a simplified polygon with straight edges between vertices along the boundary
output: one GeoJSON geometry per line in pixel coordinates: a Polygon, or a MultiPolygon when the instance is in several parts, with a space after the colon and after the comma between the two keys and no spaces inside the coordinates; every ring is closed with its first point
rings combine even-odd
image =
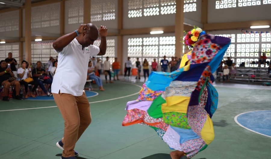
{"type": "Polygon", "coordinates": [[[163,120],[165,123],[182,129],[191,129],[188,125],[187,114],[179,112],[168,112],[163,114],[163,120]]]}

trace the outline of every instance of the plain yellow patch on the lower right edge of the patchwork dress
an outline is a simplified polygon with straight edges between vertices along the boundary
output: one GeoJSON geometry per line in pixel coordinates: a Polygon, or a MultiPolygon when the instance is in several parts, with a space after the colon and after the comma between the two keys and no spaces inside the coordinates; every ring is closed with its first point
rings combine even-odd
{"type": "Polygon", "coordinates": [[[201,138],[207,145],[209,145],[214,139],[213,122],[208,115],[206,122],[201,129],[201,138]]]}

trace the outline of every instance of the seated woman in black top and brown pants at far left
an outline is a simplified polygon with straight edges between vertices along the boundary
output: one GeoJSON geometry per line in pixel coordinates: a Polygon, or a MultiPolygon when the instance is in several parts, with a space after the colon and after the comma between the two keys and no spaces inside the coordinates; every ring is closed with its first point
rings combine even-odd
{"type": "Polygon", "coordinates": [[[6,61],[0,61],[0,83],[4,86],[4,97],[3,101],[9,101],[8,91],[10,86],[15,86],[15,99],[22,100],[19,96],[20,93],[20,83],[14,78],[14,74],[11,68],[6,68],[6,61]]]}

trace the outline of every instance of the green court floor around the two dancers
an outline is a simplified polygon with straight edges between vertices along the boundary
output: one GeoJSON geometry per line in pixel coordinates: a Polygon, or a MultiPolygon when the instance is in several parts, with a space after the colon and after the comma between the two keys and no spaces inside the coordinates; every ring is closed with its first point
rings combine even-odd
{"type": "MultiPolygon", "coordinates": [[[[148,126],[121,125],[126,102],[136,100],[142,83],[117,81],[88,98],[92,123],[76,143],[78,159],[169,159],[170,150],[148,126]]],[[[97,86],[96,86],[97,87],[97,86]]],[[[216,87],[219,106],[212,120],[215,139],[194,159],[269,159],[271,138],[237,125],[234,117],[271,110],[270,90],[216,87]]],[[[60,159],[55,144],[64,121],[54,101],[0,101],[0,155],[3,159],[60,159]],[[40,108],[48,107],[48,108],[40,108]],[[39,108],[39,109],[32,109],[39,108]],[[9,110],[9,111],[3,111],[9,110]],[[13,110],[13,111],[12,111],[13,110]]]]}

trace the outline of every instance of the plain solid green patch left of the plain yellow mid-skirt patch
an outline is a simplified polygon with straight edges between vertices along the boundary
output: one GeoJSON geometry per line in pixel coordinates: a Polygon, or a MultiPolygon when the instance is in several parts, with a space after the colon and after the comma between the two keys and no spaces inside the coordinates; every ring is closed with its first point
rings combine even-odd
{"type": "Polygon", "coordinates": [[[153,100],[150,108],[148,109],[149,116],[156,118],[156,119],[162,118],[163,113],[162,113],[161,105],[164,103],[166,103],[166,101],[164,100],[164,98],[161,97],[161,95],[159,95],[157,98],[155,98],[153,100]]]}

